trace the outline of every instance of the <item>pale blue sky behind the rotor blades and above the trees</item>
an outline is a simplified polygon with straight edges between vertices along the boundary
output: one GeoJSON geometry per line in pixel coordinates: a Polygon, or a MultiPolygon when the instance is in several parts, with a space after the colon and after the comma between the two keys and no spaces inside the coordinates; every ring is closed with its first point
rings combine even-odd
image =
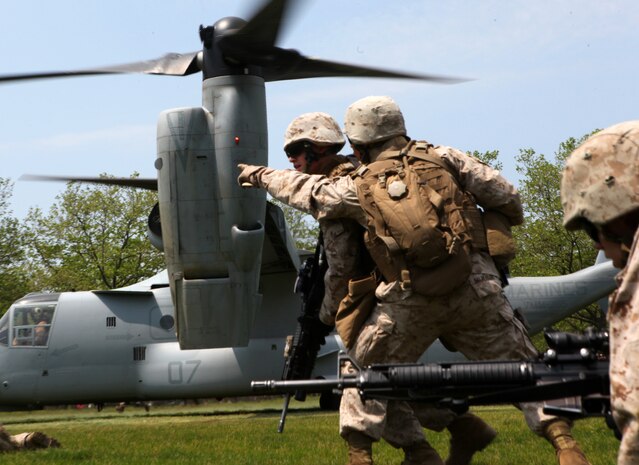
{"type": "MultiPolygon", "coordinates": [[[[552,158],[559,144],[639,119],[639,2],[635,0],[293,0],[277,45],[307,56],[471,79],[455,85],[322,78],[266,84],[269,165],[288,168],[288,123],[391,96],[408,135],[465,151],[552,158]]],[[[73,70],[201,48],[200,24],[249,18],[261,0],[4,2],[0,75],[73,70]]],[[[64,184],[23,174],[155,177],[160,112],[201,105],[201,77],[119,75],[0,85],[0,177],[12,210],[47,210],[64,184]]]]}

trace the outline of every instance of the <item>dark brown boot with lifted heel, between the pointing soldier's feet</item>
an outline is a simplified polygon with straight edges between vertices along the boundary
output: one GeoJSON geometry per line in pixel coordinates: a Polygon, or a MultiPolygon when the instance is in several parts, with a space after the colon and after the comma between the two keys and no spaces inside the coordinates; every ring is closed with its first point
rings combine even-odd
{"type": "Polygon", "coordinates": [[[475,452],[483,450],[493,442],[497,431],[472,413],[455,418],[450,425],[450,452],[446,465],[468,465],[475,452]]]}

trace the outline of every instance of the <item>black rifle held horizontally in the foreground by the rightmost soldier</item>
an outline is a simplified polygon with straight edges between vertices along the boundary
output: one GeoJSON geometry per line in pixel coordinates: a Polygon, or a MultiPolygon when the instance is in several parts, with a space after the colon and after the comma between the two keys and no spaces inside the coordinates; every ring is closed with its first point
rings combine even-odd
{"type": "MultiPolygon", "coordinates": [[[[429,402],[464,413],[471,405],[553,401],[551,414],[582,418],[610,416],[608,333],[546,332],[549,349],[524,361],[481,361],[431,364],[378,364],[360,368],[348,356],[338,357],[336,379],[254,381],[258,392],[359,391],[363,400],[429,402]],[[342,375],[346,362],[355,373],[342,375]]],[[[608,426],[612,427],[609,423],[608,426]]]]}

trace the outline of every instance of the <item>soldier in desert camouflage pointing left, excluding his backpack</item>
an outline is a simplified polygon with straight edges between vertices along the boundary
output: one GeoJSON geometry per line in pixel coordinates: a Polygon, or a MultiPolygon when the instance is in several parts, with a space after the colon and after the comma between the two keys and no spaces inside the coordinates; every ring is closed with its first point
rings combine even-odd
{"type": "MultiPolygon", "coordinates": [[[[397,152],[408,141],[403,116],[387,97],[369,97],[351,105],[345,131],[364,162],[374,161],[385,151],[397,152]],[[358,118],[360,122],[370,118],[370,124],[360,124],[358,118]],[[358,140],[360,134],[367,140],[358,140]]],[[[518,194],[497,171],[458,150],[449,147],[436,150],[478,204],[500,211],[513,225],[522,222],[518,194]]],[[[240,165],[240,168],[241,184],[265,188],[278,200],[319,220],[350,218],[367,225],[351,177],[329,179],[259,166],[240,165]]],[[[399,281],[382,282],[376,290],[378,304],[351,350],[355,361],[363,365],[414,362],[438,337],[445,337],[472,360],[536,356],[537,351],[503,294],[492,258],[483,250],[473,250],[470,259],[472,270],[468,280],[449,295],[425,297],[402,289],[399,281]]],[[[541,404],[526,404],[522,408],[530,428],[553,443],[561,465],[588,464],[572,439],[566,420],[545,415],[541,404]]],[[[340,434],[349,443],[351,463],[372,463],[371,444],[384,435],[393,446],[404,449],[405,464],[443,464],[427,443],[418,415],[406,402],[362,403],[356,393],[345,390],[340,434]]],[[[469,463],[469,460],[470,457],[449,458],[447,463],[469,463]]]]}

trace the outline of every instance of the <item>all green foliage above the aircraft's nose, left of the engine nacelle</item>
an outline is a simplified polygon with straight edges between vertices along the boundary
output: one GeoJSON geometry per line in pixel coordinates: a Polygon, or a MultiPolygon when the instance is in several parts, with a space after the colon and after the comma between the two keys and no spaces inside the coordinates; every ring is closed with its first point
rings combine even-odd
{"type": "Polygon", "coordinates": [[[146,237],[155,192],[69,183],[48,212],[19,221],[12,188],[0,178],[0,314],[28,292],[112,289],[164,267],[146,237]]]}

